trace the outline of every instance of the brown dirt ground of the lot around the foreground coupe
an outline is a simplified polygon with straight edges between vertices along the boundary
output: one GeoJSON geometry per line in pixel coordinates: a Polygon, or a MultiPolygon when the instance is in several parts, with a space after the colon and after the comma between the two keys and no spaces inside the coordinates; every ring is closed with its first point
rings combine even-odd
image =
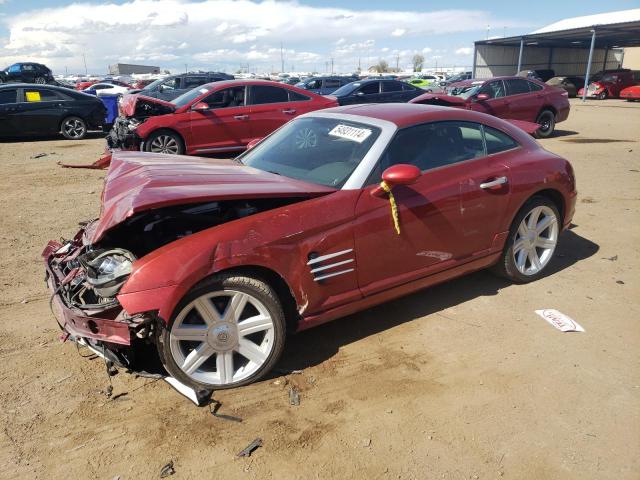
{"type": "Polygon", "coordinates": [[[242,423],[124,373],[107,399],[104,363],[58,341],[40,259],[97,215],[104,177],[56,162],[104,141],[0,143],[0,477],[640,478],[640,103],[573,101],[558,127],[542,143],[579,202],[550,275],[479,272],[302,333],[280,366],[301,374],[215,393],[242,423]]]}

